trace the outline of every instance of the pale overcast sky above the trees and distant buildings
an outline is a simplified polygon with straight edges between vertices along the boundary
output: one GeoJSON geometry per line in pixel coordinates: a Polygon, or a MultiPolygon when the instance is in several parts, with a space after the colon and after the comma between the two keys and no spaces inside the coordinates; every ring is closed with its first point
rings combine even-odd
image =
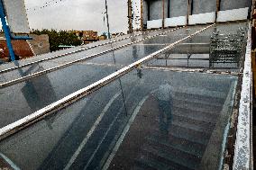
{"type": "MultiPolygon", "coordinates": [[[[126,32],[127,0],[107,0],[107,4],[110,31],[126,32]]],[[[32,29],[107,31],[105,0],[25,0],[25,5],[32,29]],[[41,8],[46,3],[50,5],[41,8]]]]}

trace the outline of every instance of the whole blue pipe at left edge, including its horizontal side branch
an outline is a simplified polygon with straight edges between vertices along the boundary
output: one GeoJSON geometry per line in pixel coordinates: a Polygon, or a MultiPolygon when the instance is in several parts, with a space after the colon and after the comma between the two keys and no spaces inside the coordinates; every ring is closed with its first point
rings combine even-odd
{"type": "Polygon", "coordinates": [[[23,37],[23,36],[13,36],[9,26],[7,25],[6,22],[6,14],[5,14],[5,9],[4,9],[4,4],[3,4],[3,0],[0,0],[0,18],[1,18],[1,22],[2,22],[2,28],[3,31],[5,32],[5,39],[6,39],[6,43],[7,43],[7,48],[9,50],[9,54],[10,54],[10,59],[12,61],[15,60],[15,54],[14,54],[14,48],[12,45],[12,40],[32,40],[31,37],[23,37]]]}

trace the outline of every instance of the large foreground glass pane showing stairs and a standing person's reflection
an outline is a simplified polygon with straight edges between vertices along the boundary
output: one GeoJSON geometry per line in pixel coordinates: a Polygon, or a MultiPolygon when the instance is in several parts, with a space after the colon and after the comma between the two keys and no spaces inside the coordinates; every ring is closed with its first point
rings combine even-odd
{"type": "Polygon", "coordinates": [[[236,81],[134,69],[1,141],[0,152],[22,169],[216,167],[236,81]]]}

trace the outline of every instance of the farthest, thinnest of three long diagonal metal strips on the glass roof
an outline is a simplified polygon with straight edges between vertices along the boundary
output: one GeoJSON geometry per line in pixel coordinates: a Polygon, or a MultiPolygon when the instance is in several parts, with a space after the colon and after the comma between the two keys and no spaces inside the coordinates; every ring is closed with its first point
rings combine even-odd
{"type": "MultiPolygon", "coordinates": [[[[160,30],[162,30],[162,29],[160,28],[160,29],[158,29],[158,30],[153,30],[153,31],[160,31],[160,30]]],[[[37,61],[33,61],[33,62],[31,62],[31,63],[23,64],[23,65],[21,65],[21,66],[10,67],[10,68],[1,70],[1,71],[0,71],[0,74],[3,74],[3,73],[6,73],[6,72],[9,72],[9,71],[12,71],[12,70],[14,70],[14,69],[22,68],[22,67],[28,67],[28,66],[31,66],[31,65],[36,64],[36,63],[41,63],[41,62],[43,62],[43,61],[48,61],[48,60],[50,60],[50,59],[66,57],[66,56],[69,56],[70,54],[75,54],[75,53],[78,53],[78,52],[86,51],[86,50],[88,50],[88,49],[94,49],[94,48],[97,48],[97,47],[100,47],[100,46],[105,46],[105,45],[107,45],[107,44],[111,44],[111,43],[118,42],[118,41],[121,41],[121,40],[131,39],[131,38],[138,37],[138,36],[141,36],[141,35],[143,35],[143,34],[150,33],[150,32],[152,32],[152,31],[145,31],[145,32],[142,32],[142,33],[139,33],[139,34],[135,34],[135,35],[129,36],[129,37],[124,37],[124,38],[122,38],[122,39],[111,40],[111,41],[108,41],[108,42],[105,42],[105,43],[102,43],[102,44],[98,44],[98,45],[95,45],[95,46],[87,47],[87,48],[85,48],[85,49],[78,49],[78,50],[71,51],[71,52],[67,52],[67,53],[64,53],[64,54],[60,54],[60,55],[57,55],[57,56],[54,56],[54,57],[51,57],[51,58],[44,58],[44,59],[40,59],[40,60],[37,60],[37,61]]]]}

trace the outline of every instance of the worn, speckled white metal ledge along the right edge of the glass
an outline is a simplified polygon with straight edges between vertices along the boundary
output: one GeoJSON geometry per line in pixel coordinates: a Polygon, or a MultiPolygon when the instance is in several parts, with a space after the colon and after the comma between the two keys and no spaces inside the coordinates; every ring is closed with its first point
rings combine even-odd
{"type": "Polygon", "coordinates": [[[248,40],[242,76],[242,92],[234,146],[233,169],[253,169],[251,166],[251,23],[249,23],[248,40]]]}

